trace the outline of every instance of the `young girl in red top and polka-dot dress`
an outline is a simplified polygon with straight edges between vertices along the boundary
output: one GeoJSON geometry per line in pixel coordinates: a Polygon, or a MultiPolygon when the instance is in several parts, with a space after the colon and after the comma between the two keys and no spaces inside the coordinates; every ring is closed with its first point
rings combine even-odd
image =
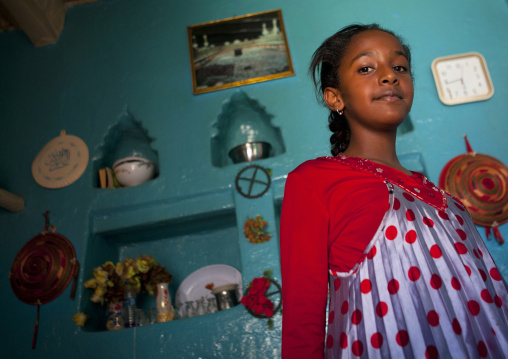
{"type": "Polygon", "coordinates": [[[507,356],[508,293],[475,225],[395,153],[413,101],[409,48],[353,25],[316,50],[310,71],[334,157],[286,182],[282,357],[507,356]]]}

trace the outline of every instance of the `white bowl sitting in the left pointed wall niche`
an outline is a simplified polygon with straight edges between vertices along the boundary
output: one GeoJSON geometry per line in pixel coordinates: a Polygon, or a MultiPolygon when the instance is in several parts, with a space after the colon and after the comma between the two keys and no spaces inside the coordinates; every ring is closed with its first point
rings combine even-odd
{"type": "Polygon", "coordinates": [[[146,158],[125,157],[113,164],[116,179],[124,187],[137,186],[155,175],[155,164],[146,158]]]}

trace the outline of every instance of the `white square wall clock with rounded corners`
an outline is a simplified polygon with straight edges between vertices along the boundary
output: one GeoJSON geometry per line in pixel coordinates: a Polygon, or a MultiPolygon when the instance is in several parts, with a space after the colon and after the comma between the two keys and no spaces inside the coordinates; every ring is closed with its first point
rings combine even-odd
{"type": "Polygon", "coordinates": [[[494,94],[485,58],[477,52],[438,57],[432,73],[439,99],[446,105],[487,100],[494,94]]]}

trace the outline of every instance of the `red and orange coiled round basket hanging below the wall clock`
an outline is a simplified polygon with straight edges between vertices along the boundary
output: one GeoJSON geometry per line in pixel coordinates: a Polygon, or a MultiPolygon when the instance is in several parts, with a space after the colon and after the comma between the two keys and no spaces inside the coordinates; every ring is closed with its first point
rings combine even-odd
{"type": "Polygon", "coordinates": [[[508,167],[496,158],[474,152],[453,158],[441,171],[439,187],[464,203],[475,224],[508,222],[508,167]]]}

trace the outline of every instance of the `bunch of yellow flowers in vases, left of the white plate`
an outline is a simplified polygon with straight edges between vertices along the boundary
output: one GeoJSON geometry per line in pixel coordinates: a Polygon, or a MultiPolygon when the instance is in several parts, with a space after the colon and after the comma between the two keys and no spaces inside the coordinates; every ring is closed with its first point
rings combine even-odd
{"type": "Polygon", "coordinates": [[[94,303],[119,302],[123,300],[124,285],[128,282],[136,291],[148,292],[153,296],[157,283],[171,283],[171,274],[150,255],[138,258],[125,258],[116,265],[106,262],[93,271],[93,278],[85,282],[85,287],[94,289],[90,300],[94,303]]]}

